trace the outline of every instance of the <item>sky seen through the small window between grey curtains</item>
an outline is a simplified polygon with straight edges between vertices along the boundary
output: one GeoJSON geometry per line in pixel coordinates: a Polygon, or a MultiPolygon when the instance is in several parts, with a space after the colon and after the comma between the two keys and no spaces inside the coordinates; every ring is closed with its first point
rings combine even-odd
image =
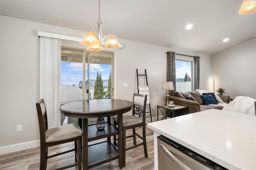
{"type": "Polygon", "coordinates": [[[175,67],[176,78],[184,78],[186,73],[188,73],[191,78],[191,62],[175,61],[175,67]]]}

